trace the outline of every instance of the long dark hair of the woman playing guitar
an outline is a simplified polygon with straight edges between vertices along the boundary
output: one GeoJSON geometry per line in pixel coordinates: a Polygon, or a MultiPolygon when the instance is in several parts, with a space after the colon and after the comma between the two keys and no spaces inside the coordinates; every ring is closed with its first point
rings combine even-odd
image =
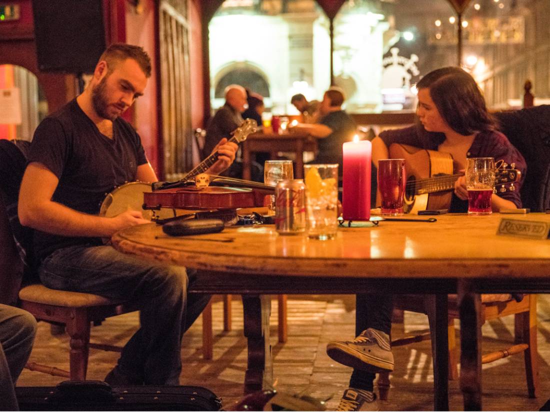
{"type": "Polygon", "coordinates": [[[444,67],[433,70],[422,77],[416,87],[430,90],[439,114],[455,132],[469,136],[497,129],[496,120],[487,112],[480,88],[463,69],[444,67]]]}

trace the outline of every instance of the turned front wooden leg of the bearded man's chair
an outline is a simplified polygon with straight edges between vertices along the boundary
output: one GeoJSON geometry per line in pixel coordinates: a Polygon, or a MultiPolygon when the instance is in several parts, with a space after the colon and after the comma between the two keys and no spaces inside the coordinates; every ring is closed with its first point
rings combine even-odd
{"type": "Polygon", "coordinates": [[[70,380],[84,381],[88,368],[88,344],[90,343],[90,320],[86,309],[74,309],[74,316],[67,322],[70,337],[70,380]]]}

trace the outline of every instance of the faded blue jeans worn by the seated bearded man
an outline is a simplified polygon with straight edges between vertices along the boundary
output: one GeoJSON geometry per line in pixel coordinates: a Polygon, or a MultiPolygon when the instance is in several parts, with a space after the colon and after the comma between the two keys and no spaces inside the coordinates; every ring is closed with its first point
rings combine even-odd
{"type": "Polygon", "coordinates": [[[210,296],[187,296],[194,276],[181,266],[118,252],[111,246],[58,249],[38,269],[47,287],[138,302],[140,329],[124,346],[117,373],[136,384],[179,385],[180,344],[210,296]]]}

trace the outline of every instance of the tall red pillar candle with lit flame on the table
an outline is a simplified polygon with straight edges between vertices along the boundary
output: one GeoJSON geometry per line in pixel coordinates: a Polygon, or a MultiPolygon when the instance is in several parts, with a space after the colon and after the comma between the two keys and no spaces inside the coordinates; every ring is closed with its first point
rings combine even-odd
{"type": "Polygon", "coordinates": [[[346,142],[343,146],[342,217],[368,220],[371,217],[371,152],[368,140],[346,142]]]}

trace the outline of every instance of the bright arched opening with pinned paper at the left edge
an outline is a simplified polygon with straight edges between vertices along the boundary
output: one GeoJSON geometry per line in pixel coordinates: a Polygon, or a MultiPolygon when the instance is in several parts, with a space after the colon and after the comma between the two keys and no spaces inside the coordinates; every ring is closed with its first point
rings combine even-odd
{"type": "Polygon", "coordinates": [[[38,123],[48,114],[48,102],[38,78],[30,70],[12,64],[0,64],[0,138],[32,139],[38,123]]]}

